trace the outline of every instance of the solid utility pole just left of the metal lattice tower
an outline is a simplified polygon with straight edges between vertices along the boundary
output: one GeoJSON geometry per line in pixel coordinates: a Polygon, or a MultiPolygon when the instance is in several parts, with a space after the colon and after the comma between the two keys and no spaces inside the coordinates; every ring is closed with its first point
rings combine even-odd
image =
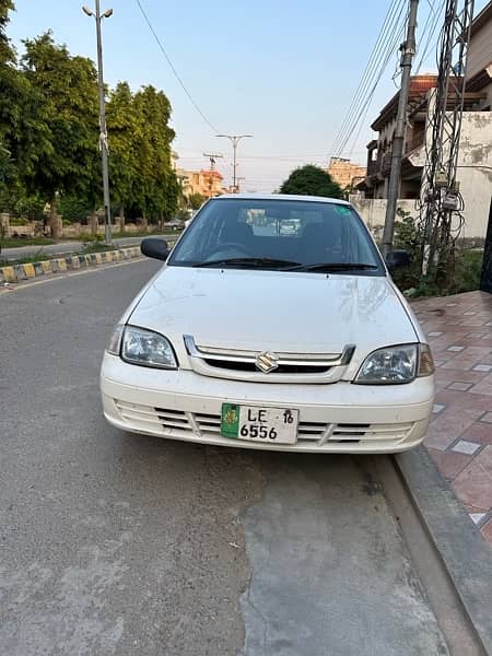
{"type": "Polygon", "coordinates": [[[401,86],[398,99],[397,121],[395,136],[393,138],[391,168],[389,173],[388,199],[386,202],[385,231],[383,236],[383,255],[386,256],[393,246],[393,234],[395,230],[395,215],[397,200],[400,190],[401,159],[403,155],[405,129],[407,125],[407,105],[410,90],[410,74],[412,60],[415,54],[415,27],[417,10],[419,0],[410,0],[410,13],[408,17],[407,38],[401,45],[401,86]]]}

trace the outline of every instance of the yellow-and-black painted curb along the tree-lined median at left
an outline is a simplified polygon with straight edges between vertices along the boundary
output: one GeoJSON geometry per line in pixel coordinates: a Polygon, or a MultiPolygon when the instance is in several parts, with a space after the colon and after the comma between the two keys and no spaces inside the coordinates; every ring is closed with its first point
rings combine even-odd
{"type": "Polygon", "coordinates": [[[130,248],[119,248],[118,250],[71,255],[69,257],[58,257],[38,262],[28,262],[26,265],[0,267],[0,284],[4,284],[5,282],[21,282],[23,280],[30,280],[31,278],[47,276],[49,273],[60,273],[63,271],[85,269],[86,267],[97,267],[109,262],[120,262],[122,260],[140,257],[140,246],[131,246],[130,248]]]}

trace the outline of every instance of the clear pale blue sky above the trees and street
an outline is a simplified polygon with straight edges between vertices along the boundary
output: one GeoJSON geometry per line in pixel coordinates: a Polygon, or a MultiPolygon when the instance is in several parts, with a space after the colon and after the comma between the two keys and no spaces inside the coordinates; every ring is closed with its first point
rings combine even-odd
{"type": "MultiPolygon", "coordinates": [[[[85,0],[93,7],[93,0],[85,0]]],[[[270,191],[305,163],[326,165],[333,138],[376,42],[389,0],[141,0],[196,102],[221,132],[250,133],[238,149],[243,190],[270,191]]],[[[9,35],[51,28],[72,54],[95,59],[95,26],[78,0],[15,0],[9,35]]],[[[480,10],[485,0],[476,3],[480,10]]],[[[420,30],[431,5],[421,0],[420,30]]],[[[208,166],[203,152],[223,153],[218,168],[231,181],[227,141],[197,114],[159,50],[136,0],[107,0],[103,23],[105,79],[162,89],[173,105],[174,148],[184,168],[208,166]]],[[[423,50],[423,47],[421,48],[423,50]]],[[[434,51],[422,70],[434,70],[434,51]]],[[[370,124],[396,92],[393,56],[358,139],[345,151],[365,163],[370,124]]],[[[354,136],[355,138],[355,136],[354,136]]],[[[110,147],[110,144],[109,144],[110,147]]]]}

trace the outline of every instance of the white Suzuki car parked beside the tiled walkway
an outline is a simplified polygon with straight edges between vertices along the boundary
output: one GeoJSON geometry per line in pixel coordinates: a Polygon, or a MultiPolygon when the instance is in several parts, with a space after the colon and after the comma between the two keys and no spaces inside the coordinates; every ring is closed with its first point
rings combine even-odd
{"type": "Polygon", "coordinates": [[[156,238],[142,253],[165,263],[104,354],[109,423],[289,452],[394,453],[422,442],[432,355],[350,203],[221,196],[171,254],[156,238]]]}

